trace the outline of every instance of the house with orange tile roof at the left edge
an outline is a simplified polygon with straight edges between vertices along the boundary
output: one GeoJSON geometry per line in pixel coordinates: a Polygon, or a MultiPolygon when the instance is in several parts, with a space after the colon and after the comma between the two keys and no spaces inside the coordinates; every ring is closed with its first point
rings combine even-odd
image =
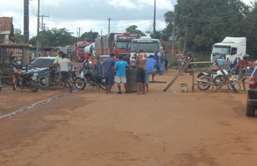
{"type": "Polygon", "coordinates": [[[12,44],[13,32],[13,17],[0,17],[0,44],[12,44]]]}

